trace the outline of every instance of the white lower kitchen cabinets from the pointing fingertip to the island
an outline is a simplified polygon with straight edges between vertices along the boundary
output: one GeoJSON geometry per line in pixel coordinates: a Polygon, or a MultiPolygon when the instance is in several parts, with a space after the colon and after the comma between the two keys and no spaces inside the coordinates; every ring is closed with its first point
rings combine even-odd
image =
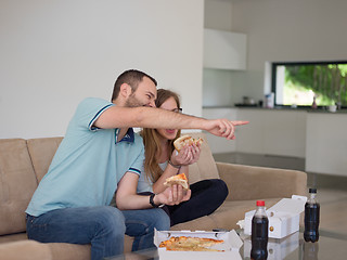
{"type": "Polygon", "coordinates": [[[305,158],[306,112],[253,109],[237,110],[237,152],[305,158]]]}

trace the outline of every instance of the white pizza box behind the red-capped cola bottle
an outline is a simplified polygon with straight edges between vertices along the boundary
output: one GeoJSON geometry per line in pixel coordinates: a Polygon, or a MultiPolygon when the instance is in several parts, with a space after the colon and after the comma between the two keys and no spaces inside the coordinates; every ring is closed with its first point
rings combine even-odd
{"type": "MultiPolygon", "coordinates": [[[[267,209],[269,219],[269,237],[283,238],[299,230],[300,213],[305,210],[307,197],[293,195],[292,198],[282,198],[267,209]]],[[[244,233],[252,233],[252,218],[256,210],[245,213],[244,233]]]]}

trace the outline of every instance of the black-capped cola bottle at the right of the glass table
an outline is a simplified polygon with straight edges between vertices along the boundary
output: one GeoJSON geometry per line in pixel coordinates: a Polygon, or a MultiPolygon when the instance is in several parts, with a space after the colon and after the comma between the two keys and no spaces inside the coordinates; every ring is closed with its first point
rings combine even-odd
{"type": "Polygon", "coordinates": [[[305,231],[304,239],[306,242],[318,242],[319,239],[319,211],[320,205],[316,200],[317,188],[309,188],[310,197],[305,204],[305,231]]]}

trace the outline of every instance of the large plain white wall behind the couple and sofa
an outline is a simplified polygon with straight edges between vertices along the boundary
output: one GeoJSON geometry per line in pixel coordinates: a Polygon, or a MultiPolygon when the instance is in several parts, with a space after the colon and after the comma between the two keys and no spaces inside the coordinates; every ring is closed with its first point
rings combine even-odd
{"type": "Polygon", "coordinates": [[[64,135],[78,102],[110,100],[129,68],[201,116],[203,23],[202,0],[0,1],[0,138],[64,135]]]}

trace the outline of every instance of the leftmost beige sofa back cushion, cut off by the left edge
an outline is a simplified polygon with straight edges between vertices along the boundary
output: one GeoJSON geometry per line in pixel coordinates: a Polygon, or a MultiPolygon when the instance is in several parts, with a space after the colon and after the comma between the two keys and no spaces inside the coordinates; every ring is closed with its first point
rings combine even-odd
{"type": "Polygon", "coordinates": [[[25,231],[25,209],[37,187],[26,141],[0,140],[0,235],[25,231]]]}

